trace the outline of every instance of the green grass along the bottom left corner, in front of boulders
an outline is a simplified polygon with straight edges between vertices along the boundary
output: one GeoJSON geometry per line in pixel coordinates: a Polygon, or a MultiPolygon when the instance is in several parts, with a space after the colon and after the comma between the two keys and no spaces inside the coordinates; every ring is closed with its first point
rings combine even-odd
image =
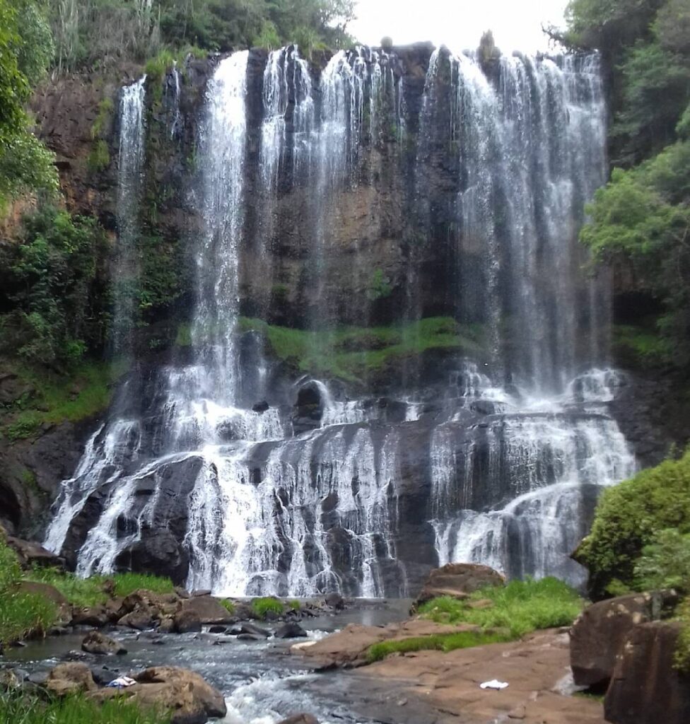
{"type": "Polygon", "coordinates": [[[0,721],[12,724],[169,724],[170,715],[111,699],[96,704],[83,696],[46,702],[15,692],[0,694],[0,721]]]}

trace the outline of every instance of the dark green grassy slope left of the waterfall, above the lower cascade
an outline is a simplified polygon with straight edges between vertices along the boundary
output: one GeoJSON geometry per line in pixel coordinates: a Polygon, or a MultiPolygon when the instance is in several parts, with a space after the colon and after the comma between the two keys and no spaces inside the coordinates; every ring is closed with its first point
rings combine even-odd
{"type": "Polygon", "coordinates": [[[78,422],[105,410],[112,399],[113,383],[126,371],[122,361],[83,363],[69,375],[28,367],[12,369],[35,390],[11,411],[12,419],[2,432],[11,441],[31,437],[43,424],[78,422]]]}

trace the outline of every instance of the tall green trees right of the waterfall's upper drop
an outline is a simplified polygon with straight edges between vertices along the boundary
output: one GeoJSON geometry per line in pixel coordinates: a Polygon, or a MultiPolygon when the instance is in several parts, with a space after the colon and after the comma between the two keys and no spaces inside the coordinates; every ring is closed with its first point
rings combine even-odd
{"type": "Polygon", "coordinates": [[[690,0],[571,0],[565,32],[599,49],[610,75],[611,179],[581,240],[594,260],[634,276],[656,313],[644,337],[617,340],[623,363],[690,361],[690,0]]]}

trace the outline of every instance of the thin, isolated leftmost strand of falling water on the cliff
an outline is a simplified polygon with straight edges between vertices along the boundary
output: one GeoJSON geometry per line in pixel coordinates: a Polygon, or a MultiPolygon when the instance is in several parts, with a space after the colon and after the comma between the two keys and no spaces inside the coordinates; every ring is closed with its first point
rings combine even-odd
{"type": "Polygon", "coordinates": [[[119,149],[117,153],[117,250],[114,260],[113,348],[130,352],[135,319],[133,287],[138,282],[136,243],[139,235],[139,204],[143,184],[145,144],[144,101],[146,75],[122,88],[119,101],[119,149]]]}

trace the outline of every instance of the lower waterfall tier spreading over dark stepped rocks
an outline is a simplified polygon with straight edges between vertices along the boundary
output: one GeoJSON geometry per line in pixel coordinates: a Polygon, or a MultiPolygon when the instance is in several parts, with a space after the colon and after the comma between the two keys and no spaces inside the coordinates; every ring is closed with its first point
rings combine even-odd
{"type": "Polygon", "coordinates": [[[508,395],[469,363],[413,401],[338,400],[300,379],[282,404],[254,409],[193,399],[202,373],[140,379],[148,408],[91,437],[46,538],[78,573],[404,597],[429,568],[474,561],[577,585],[569,555],[597,494],[634,471],[607,415],[623,384],[613,371],[578,377],[558,400],[508,395]]]}

